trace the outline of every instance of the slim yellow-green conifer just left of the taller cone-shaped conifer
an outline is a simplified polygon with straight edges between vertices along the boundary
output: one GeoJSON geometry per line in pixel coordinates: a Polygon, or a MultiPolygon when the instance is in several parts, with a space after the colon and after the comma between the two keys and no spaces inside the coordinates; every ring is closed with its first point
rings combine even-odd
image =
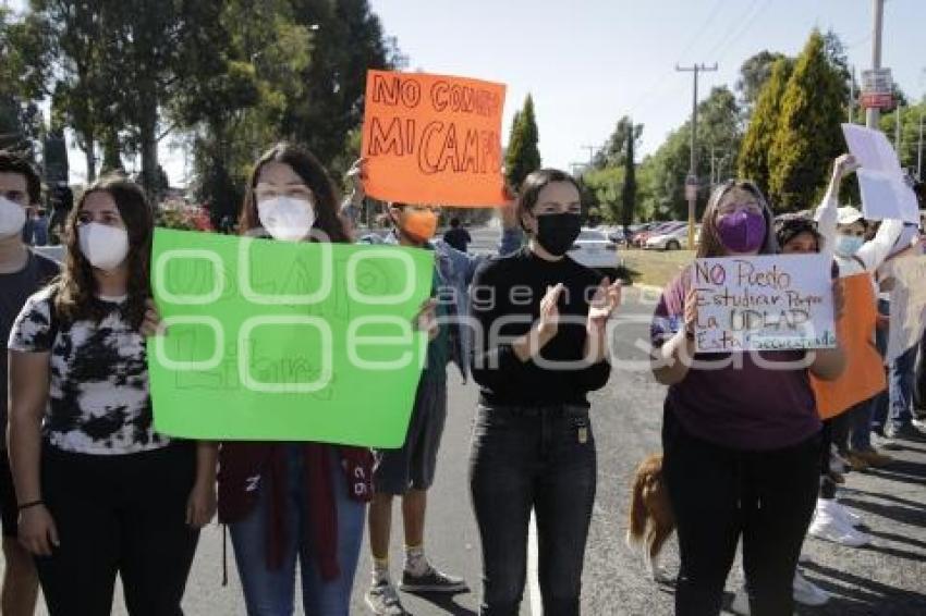
{"type": "Polygon", "coordinates": [[[771,70],[771,75],[756,99],[755,109],[750,119],[743,147],[736,160],[740,177],[755,182],[764,194],[768,194],[768,157],[778,130],[781,115],[781,99],[791,77],[793,61],[780,58],[771,70]]]}

